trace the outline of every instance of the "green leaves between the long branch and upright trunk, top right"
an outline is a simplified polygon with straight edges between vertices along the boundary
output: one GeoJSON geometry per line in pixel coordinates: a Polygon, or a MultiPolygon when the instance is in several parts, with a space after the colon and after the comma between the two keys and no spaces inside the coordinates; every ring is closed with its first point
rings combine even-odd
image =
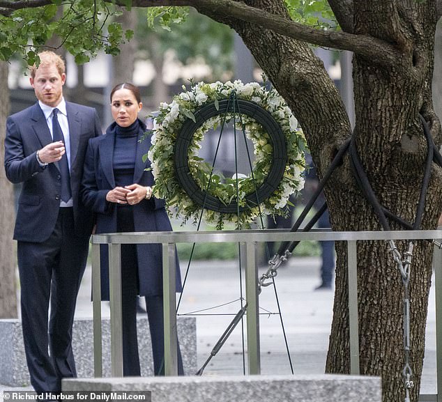
{"type": "Polygon", "coordinates": [[[337,29],[338,24],[327,0],[284,0],[291,18],[318,29],[337,29]]]}

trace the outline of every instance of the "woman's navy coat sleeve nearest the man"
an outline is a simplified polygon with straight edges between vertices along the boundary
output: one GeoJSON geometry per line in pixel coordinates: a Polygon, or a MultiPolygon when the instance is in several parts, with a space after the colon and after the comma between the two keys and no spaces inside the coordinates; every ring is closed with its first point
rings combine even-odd
{"type": "Polygon", "coordinates": [[[109,189],[100,189],[97,185],[96,171],[100,169],[97,160],[98,148],[89,140],[84,160],[84,171],[82,185],[80,188],[80,197],[86,208],[102,214],[111,214],[114,208],[112,203],[106,201],[106,194],[109,189]]]}

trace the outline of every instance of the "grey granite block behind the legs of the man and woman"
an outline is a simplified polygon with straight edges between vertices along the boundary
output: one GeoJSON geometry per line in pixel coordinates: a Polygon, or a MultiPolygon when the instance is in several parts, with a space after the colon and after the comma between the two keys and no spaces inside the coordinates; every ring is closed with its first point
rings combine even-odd
{"type": "MultiPolygon", "coordinates": [[[[92,318],[75,319],[73,326],[73,350],[77,376],[93,377],[93,321],[92,318]]],[[[147,317],[137,318],[139,360],[142,376],[153,376],[151,336],[147,317]]],[[[197,371],[197,327],[193,317],[177,318],[178,339],[183,356],[184,371],[197,371]]],[[[20,320],[0,320],[0,378],[3,385],[25,387],[29,385],[29,373],[23,348],[22,323],[20,320]]],[[[111,375],[110,321],[102,319],[103,375],[111,375]]]]}

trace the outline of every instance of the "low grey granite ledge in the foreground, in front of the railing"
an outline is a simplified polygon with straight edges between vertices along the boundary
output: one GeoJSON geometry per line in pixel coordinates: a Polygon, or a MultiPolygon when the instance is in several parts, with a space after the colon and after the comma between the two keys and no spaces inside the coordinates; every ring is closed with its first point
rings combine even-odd
{"type": "Polygon", "coordinates": [[[152,402],[381,402],[381,379],[368,376],[206,376],[77,378],[63,391],[151,391],[152,402]]]}

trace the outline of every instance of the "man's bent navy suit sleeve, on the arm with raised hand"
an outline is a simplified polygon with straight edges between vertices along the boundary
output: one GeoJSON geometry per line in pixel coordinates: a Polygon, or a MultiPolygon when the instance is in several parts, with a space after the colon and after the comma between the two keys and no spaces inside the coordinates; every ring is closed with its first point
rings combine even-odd
{"type": "Polygon", "coordinates": [[[12,118],[6,121],[5,171],[12,183],[22,183],[45,170],[37,161],[36,152],[25,155],[22,134],[12,118]]]}

